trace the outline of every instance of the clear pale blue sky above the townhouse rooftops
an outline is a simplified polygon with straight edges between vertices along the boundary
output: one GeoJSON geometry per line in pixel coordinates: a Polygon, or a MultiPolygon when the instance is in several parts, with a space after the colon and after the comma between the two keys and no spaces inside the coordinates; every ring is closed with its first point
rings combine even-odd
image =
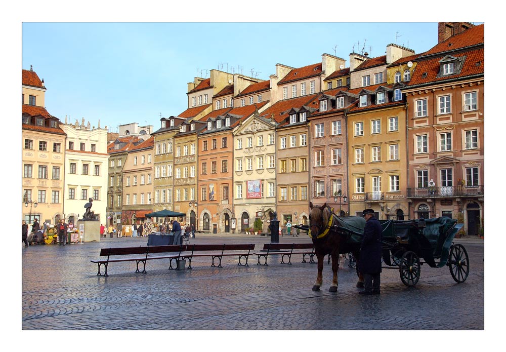
{"type": "Polygon", "coordinates": [[[160,113],[184,111],[187,83],[211,69],[267,80],[276,63],[306,66],[323,53],[348,65],[352,51],[384,55],[396,34],[421,53],[437,44],[437,22],[24,22],[22,68],[44,79],[46,107],[61,121],[157,129],[160,113]]]}

